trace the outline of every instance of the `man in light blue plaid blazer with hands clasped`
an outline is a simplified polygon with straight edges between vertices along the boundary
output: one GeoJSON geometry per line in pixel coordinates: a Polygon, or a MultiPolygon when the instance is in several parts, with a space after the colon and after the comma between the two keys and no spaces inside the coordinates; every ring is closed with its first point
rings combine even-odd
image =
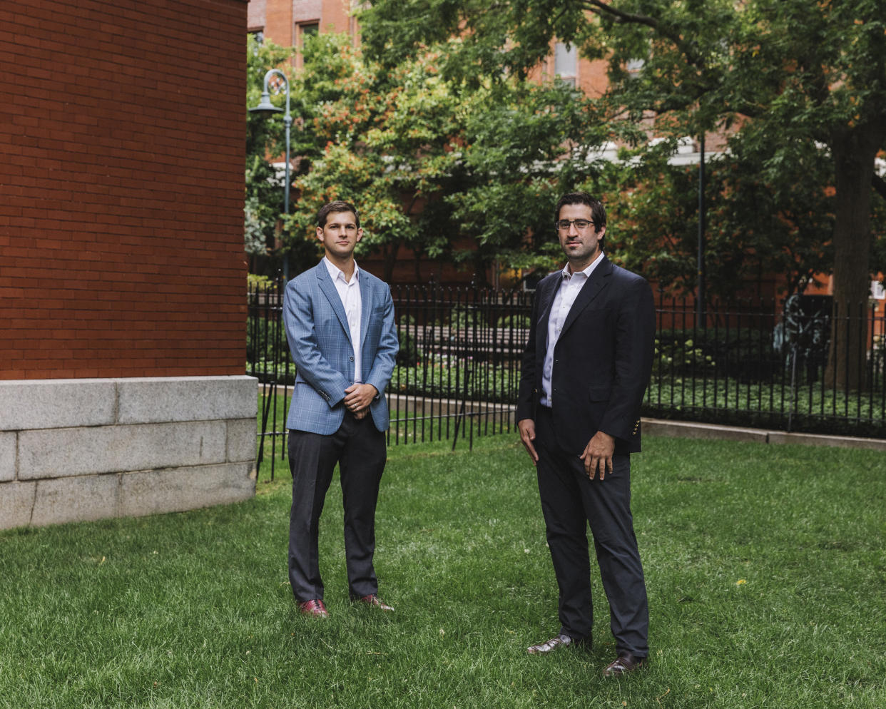
{"type": "Polygon", "coordinates": [[[391,289],[357,268],[360,217],[347,202],[317,215],[323,260],[286,285],[284,323],[297,368],[291,407],[289,578],[299,610],[326,617],[317,532],[338,464],[345,507],[351,598],[392,610],[378,598],[372,563],[378,487],[385,469],[385,387],[398,351],[391,289]]]}

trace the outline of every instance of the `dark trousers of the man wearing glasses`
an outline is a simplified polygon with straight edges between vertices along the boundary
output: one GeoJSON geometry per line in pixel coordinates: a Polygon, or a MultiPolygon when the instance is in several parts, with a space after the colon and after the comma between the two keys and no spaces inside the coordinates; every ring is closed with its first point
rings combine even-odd
{"type": "Polygon", "coordinates": [[[631,516],[631,459],[613,456],[613,471],[587,477],[581,451],[556,442],[551,412],[539,407],[535,449],[541,510],[560,588],[560,632],[576,639],[591,634],[590,555],[587,525],[594,536],[597,565],[610,604],[610,628],[618,651],[649,654],[649,604],[631,516]]]}

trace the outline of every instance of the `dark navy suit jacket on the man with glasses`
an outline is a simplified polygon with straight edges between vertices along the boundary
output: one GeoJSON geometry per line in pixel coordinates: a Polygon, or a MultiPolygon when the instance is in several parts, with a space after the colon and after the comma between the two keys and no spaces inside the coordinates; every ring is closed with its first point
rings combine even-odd
{"type": "MultiPolygon", "coordinates": [[[[554,347],[551,379],[556,438],[580,456],[595,432],[615,438],[617,454],[640,450],[640,406],[652,372],[656,312],[652,289],[605,255],[582,286],[554,347]]],[[[535,290],[517,420],[535,418],[548,349],[548,317],[562,279],[557,271],[535,290]]]]}

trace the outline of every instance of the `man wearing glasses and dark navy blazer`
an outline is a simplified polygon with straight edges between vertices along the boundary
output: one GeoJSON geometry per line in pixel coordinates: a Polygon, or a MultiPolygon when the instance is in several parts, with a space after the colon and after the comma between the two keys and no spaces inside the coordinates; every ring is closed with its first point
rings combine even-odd
{"type": "Polygon", "coordinates": [[[535,291],[517,426],[538,474],[561,627],[528,651],[591,643],[589,524],[618,653],[603,674],[625,674],[649,656],[630,454],[640,451],[655,305],[643,278],[602,253],[606,211],[599,200],[586,192],[564,195],[555,222],[567,263],[535,291]]]}

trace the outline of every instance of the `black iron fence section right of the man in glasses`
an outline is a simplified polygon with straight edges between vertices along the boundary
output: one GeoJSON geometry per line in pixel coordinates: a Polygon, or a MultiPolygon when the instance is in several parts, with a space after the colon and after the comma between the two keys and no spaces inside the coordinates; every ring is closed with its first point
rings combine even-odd
{"type": "Polygon", "coordinates": [[[778,431],[886,437],[886,318],[829,297],[657,301],[643,413],[778,431]]]}

